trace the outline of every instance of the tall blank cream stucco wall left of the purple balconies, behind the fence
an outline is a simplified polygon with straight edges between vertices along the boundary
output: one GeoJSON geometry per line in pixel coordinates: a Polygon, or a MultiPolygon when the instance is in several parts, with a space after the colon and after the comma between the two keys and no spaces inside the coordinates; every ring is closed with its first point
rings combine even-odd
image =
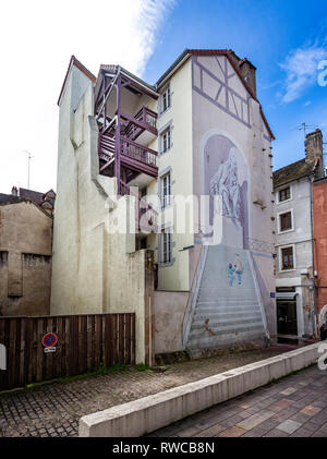
{"type": "Polygon", "coordinates": [[[144,362],[146,252],[135,252],[134,234],[108,233],[125,220],[128,197],[117,201],[116,179],[98,173],[93,86],[85,78],[72,68],[60,106],[51,314],[135,312],[136,360],[144,362]]]}

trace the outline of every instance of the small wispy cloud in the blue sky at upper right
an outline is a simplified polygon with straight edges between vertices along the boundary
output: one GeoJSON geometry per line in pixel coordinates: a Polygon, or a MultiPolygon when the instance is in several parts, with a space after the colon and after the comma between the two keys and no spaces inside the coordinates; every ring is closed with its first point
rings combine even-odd
{"type": "Polygon", "coordinates": [[[306,88],[316,84],[317,65],[327,57],[322,46],[306,46],[292,51],[280,64],[286,72],[286,87],[282,101],[288,104],[302,96],[306,88]]]}

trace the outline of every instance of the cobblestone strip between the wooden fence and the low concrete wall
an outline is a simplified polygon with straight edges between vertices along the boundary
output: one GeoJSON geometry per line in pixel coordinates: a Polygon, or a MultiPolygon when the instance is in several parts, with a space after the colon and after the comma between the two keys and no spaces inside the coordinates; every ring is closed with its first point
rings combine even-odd
{"type": "Polygon", "coordinates": [[[268,359],[288,347],[225,353],[169,365],[165,373],[125,370],[0,394],[0,437],[77,436],[80,418],[217,373],[268,359]]]}

